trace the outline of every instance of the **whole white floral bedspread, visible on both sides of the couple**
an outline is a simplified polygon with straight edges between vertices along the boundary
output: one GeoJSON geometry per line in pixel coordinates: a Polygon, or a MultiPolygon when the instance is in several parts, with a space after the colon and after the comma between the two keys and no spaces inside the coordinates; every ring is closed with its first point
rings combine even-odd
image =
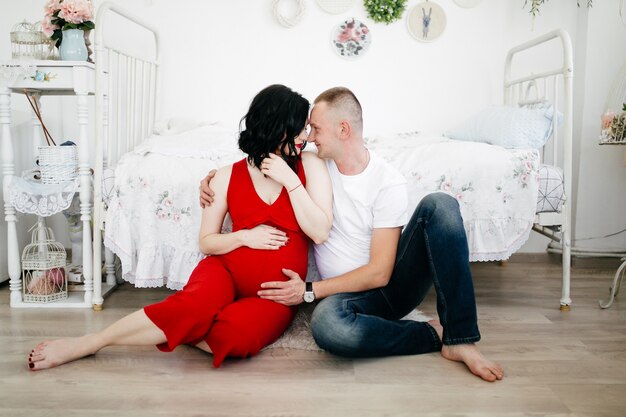
{"type": "MultiPolygon", "coordinates": [[[[417,133],[372,137],[367,146],[408,180],[411,211],[442,191],[460,203],[472,261],[507,259],[535,216],[539,155],[417,133]]],[[[184,286],[202,254],[198,185],[212,168],[243,157],[236,132],[204,126],[153,136],[124,155],[106,215],[105,245],[138,287],[184,286]]],[[[310,263],[310,273],[312,271],[310,263]]]]}

